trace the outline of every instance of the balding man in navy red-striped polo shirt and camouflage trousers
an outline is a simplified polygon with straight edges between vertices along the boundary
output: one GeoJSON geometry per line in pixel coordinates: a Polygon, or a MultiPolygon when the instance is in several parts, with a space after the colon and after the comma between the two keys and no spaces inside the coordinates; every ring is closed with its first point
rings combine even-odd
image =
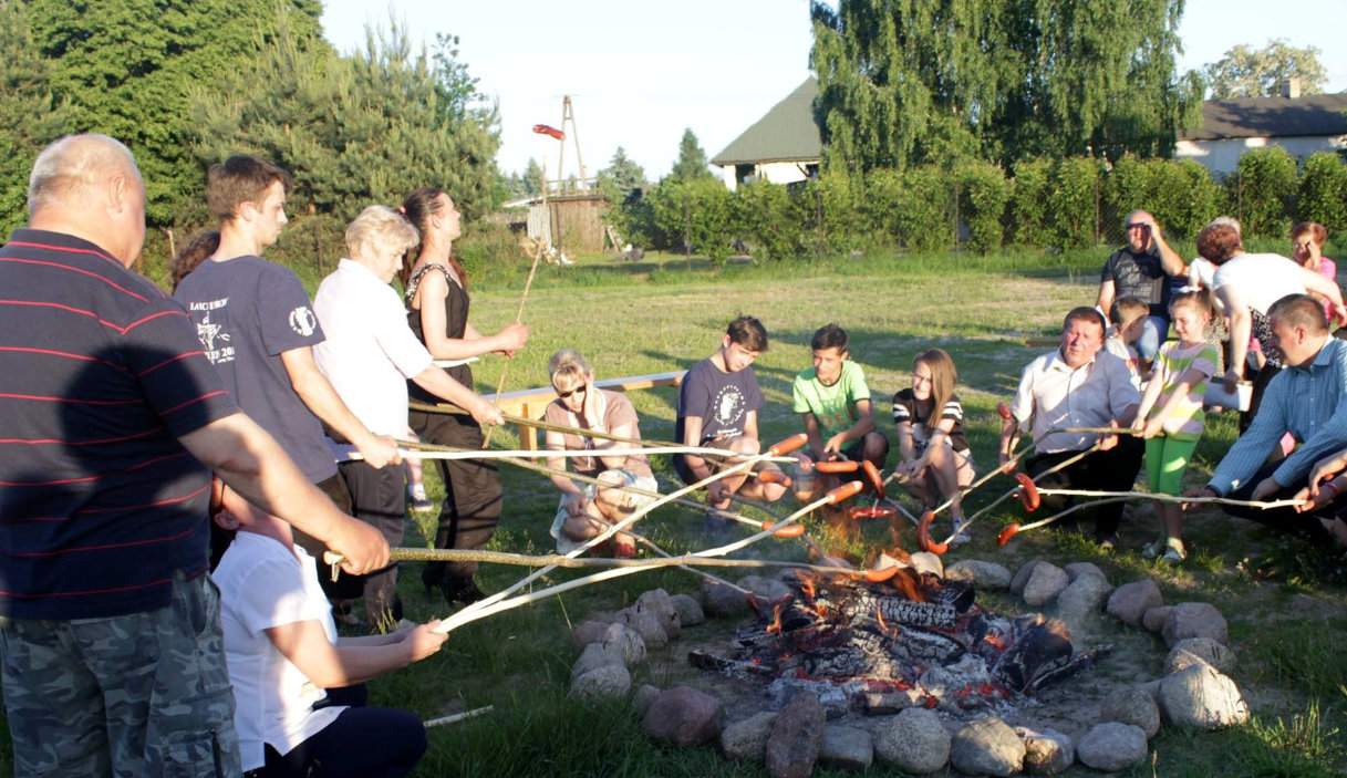
{"type": "Polygon", "coordinates": [[[97,135],[38,156],[0,248],[0,680],[16,775],[236,775],[210,472],[388,564],[240,413],[180,306],[131,272],[145,188],[97,135]],[[209,468],[209,470],[207,470],[209,468]]]}

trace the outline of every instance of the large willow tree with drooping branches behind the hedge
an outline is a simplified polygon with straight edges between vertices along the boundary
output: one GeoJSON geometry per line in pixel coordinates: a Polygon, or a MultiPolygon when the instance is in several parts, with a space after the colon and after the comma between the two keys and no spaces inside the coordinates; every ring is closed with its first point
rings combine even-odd
{"type": "Polygon", "coordinates": [[[815,120],[830,170],[1153,156],[1199,117],[1177,75],[1183,0],[815,0],[815,120]]]}

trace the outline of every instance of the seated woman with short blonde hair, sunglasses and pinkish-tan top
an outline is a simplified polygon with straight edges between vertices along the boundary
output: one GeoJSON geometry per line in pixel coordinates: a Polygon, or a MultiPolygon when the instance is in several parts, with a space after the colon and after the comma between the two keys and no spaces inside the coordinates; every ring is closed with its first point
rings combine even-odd
{"type": "MultiPolygon", "coordinates": [[[[594,388],[594,372],[585,357],[572,349],[552,354],[547,372],[552,377],[556,400],[547,405],[548,424],[578,427],[606,432],[617,437],[638,440],[641,429],[632,401],[621,392],[594,388]]],[[[590,478],[598,478],[605,487],[577,483],[564,475],[554,475],[552,483],[562,490],[562,502],[552,521],[556,551],[570,553],[586,540],[601,534],[610,525],[622,521],[652,498],[625,491],[634,486],[644,491],[657,491],[659,485],[644,456],[603,456],[605,448],[630,448],[628,443],[589,437],[566,432],[547,432],[548,451],[594,451],[594,456],[550,458],[548,467],[571,468],[590,478]]],[[[636,556],[636,540],[629,533],[613,536],[613,555],[636,556]]]]}

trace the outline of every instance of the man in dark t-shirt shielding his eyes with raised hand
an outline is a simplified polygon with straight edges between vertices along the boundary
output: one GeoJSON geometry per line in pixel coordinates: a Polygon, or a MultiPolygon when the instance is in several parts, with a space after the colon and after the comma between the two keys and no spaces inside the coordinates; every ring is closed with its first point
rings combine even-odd
{"type": "Polygon", "coordinates": [[[1137,341],[1137,354],[1149,365],[1169,334],[1169,280],[1183,275],[1184,264],[1183,257],[1165,242],[1160,225],[1149,213],[1131,211],[1122,226],[1127,245],[1103,264],[1095,307],[1107,318],[1113,302],[1119,297],[1140,297],[1150,306],[1150,315],[1144,320],[1141,339],[1137,341]]]}

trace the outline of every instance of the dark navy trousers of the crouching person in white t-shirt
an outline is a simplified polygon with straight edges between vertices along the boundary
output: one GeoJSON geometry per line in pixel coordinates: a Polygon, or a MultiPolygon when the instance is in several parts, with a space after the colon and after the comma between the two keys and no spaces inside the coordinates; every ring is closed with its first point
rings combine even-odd
{"type": "Polygon", "coordinates": [[[315,707],[349,705],[317,735],[282,755],[267,746],[265,766],[248,778],[400,778],[426,752],[426,727],[408,711],[366,708],[364,685],[327,689],[315,707]]]}

